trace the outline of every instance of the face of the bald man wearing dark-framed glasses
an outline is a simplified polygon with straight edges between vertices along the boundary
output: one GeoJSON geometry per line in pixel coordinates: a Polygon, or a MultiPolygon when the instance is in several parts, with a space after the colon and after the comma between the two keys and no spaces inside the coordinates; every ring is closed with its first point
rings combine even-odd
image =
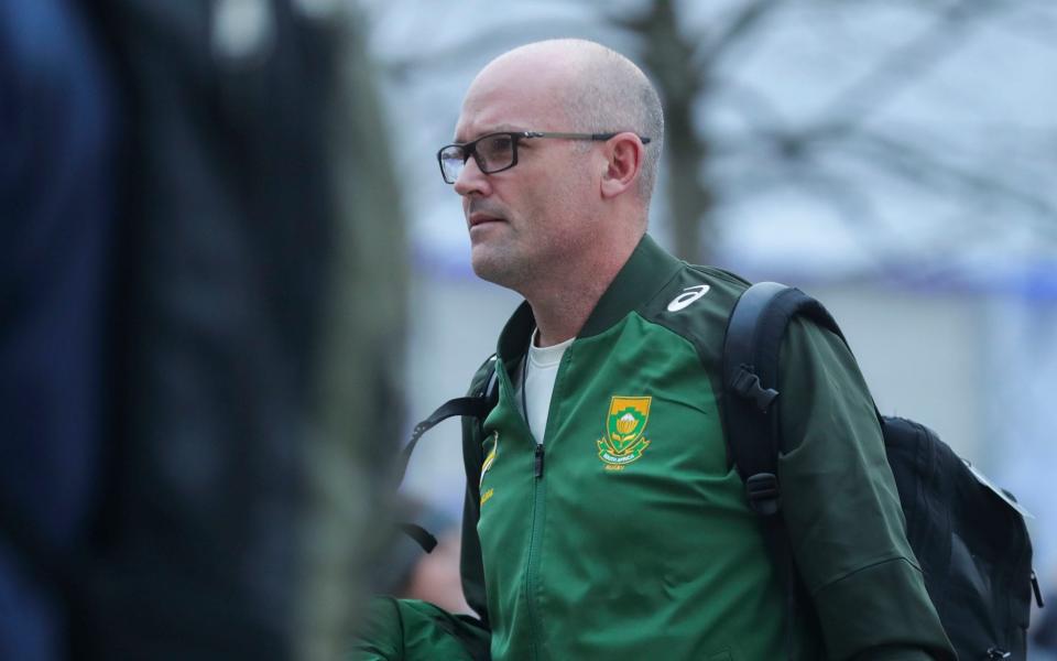
{"type": "MultiPolygon", "coordinates": [[[[493,63],[478,76],[462,104],[456,141],[495,131],[573,130],[555,100],[555,75],[530,72],[527,64],[493,63]]],[[[481,173],[469,159],[455,189],[462,196],[471,263],[480,278],[524,293],[590,246],[598,229],[590,213],[598,192],[591,163],[598,155],[585,153],[582,144],[522,140],[517,164],[493,174],[481,173]]]]}

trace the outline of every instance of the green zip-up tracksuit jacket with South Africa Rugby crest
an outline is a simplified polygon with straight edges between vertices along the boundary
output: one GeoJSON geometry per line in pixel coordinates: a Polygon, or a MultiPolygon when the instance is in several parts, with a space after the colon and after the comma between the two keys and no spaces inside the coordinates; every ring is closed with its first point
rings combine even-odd
{"type": "MultiPolygon", "coordinates": [[[[534,325],[522,305],[499,340],[499,403],[465,423],[468,464],[483,465],[462,561],[481,627],[381,602],[356,658],[465,658],[460,636],[494,659],[786,658],[784,589],[720,416],[723,333],[745,286],[645,237],[566,350],[542,443],[511,377],[534,325]]],[[[952,659],[853,358],[795,322],[782,375],[783,511],[814,606],[793,626],[796,658],[952,659]]]]}

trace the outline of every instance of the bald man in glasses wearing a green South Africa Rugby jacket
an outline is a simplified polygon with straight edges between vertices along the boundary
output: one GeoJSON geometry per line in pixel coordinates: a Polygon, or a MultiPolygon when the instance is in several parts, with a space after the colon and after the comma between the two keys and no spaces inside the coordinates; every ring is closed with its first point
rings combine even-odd
{"type": "Polygon", "coordinates": [[[780,479],[809,608],[789,621],[719,414],[747,283],[645,236],[663,119],[642,72],[589,42],[514,50],[473,80],[455,141],[439,159],[473,270],[525,297],[475,379],[494,371],[498,404],[465,425],[484,456],[462,559],[482,619],[380,602],[358,658],[482,640],[493,659],[954,658],[861,376],[800,322],[780,479]]]}

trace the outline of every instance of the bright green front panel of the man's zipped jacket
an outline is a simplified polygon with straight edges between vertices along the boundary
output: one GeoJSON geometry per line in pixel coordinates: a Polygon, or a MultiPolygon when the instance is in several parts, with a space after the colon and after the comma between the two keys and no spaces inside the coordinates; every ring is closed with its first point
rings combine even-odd
{"type": "MultiPolygon", "coordinates": [[[[530,330],[515,323],[501,344],[525,347],[530,330]]],[[[727,464],[694,345],[634,312],[578,338],[555,382],[542,478],[505,368],[516,360],[500,358],[500,400],[484,423],[484,453],[498,451],[481,480],[478,523],[493,655],[778,653],[781,588],[727,464]],[[636,395],[652,398],[651,444],[609,465],[598,443],[611,401],[636,395]]]]}

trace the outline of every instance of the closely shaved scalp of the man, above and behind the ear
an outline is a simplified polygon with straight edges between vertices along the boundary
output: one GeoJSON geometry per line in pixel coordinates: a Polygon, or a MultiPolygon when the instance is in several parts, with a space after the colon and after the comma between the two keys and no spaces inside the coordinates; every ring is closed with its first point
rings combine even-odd
{"type": "MultiPolygon", "coordinates": [[[[650,138],[639,180],[639,195],[649,203],[664,144],[664,115],[656,89],[633,62],[601,44],[559,39],[514,48],[493,59],[479,75],[531,63],[534,75],[553,77],[551,90],[558,130],[585,133],[631,131],[650,138]]],[[[589,149],[582,144],[581,149],[589,149]]]]}

